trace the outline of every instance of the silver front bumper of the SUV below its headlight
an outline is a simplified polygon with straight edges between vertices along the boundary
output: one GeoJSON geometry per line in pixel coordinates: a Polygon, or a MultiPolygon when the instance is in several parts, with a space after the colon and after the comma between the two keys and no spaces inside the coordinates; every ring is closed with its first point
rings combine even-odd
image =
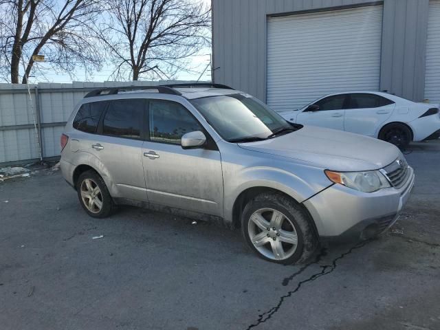
{"type": "Polygon", "coordinates": [[[399,217],[415,182],[414,170],[401,188],[360,192],[334,184],[304,202],[322,239],[365,239],[388,229],[399,217]]]}

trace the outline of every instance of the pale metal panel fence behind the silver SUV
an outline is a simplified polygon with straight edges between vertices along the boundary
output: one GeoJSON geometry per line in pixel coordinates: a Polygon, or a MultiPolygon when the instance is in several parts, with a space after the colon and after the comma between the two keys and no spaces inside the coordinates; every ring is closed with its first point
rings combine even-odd
{"type": "Polygon", "coordinates": [[[60,155],[60,135],[75,104],[102,87],[151,86],[188,81],[0,84],[0,163],[60,155]],[[32,101],[31,101],[32,100],[32,101]],[[32,106],[31,106],[32,102],[32,106]],[[32,111],[33,110],[33,111],[32,111]]]}

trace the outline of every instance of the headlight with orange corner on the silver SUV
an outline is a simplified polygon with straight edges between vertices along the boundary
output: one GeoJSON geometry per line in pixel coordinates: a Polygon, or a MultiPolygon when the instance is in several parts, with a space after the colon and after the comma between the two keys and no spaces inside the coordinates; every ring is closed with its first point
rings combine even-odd
{"type": "Polygon", "coordinates": [[[335,184],[363,191],[374,192],[382,188],[391,187],[386,177],[379,170],[366,172],[334,172],[325,170],[325,175],[335,184]]]}

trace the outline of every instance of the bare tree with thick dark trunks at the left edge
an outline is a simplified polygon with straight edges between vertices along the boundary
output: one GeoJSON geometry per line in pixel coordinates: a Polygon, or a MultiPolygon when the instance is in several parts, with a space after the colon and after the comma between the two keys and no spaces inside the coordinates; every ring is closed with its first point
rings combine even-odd
{"type": "Polygon", "coordinates": [[[41,72],[72,74],[80,65],[98,68],[102,56],[91,35],[101,6],[99,0],[0,0],[0,74],[22,83],[35,69],[32,55],[45,55],[41,72]]]}

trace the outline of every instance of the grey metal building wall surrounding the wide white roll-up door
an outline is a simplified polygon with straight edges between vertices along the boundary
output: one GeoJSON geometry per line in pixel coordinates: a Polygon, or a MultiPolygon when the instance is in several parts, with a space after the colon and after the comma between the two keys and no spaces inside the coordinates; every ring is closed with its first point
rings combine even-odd
{"type": "Polygon", "coordinates": [[[265,101],[267,17],[384,4],[380,89],[423,100],[428,0],[212,0],[214,81],[265,101]]]}

